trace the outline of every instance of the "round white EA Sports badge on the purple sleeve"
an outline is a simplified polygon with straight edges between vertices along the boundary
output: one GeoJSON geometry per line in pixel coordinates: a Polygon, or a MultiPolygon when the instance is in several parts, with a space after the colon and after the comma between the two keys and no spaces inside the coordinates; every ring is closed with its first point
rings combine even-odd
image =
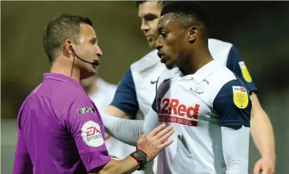
{"type": "Polygon", "coordinates": [[[98,147],[104,144],[102,132],[100,132],[100,125],[94,121],[87,121],[82,126],[82,139],[84,143],[91,147],[98,147]]]}

